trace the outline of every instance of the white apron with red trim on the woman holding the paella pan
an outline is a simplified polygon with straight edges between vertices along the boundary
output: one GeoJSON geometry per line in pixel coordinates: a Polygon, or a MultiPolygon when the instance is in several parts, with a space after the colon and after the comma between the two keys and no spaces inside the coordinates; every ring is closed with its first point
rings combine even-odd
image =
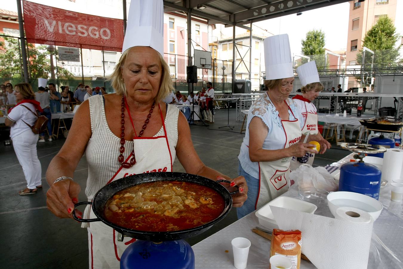
{"type": "MultiPolygon", "coordinates": [[[[134,137],[135,165],[127,169],[120,167],[107,184],[116,179],[139,173],[172,172],[172,156],[162,112],[161,120],[162,127],[164,128],[164,136],[134,137]]],[[[131,154],[127,157],[125,162],[130,162],[130,159],[131,154]]],[[[92,218],[96,218],[96,216],[91,209],[90,219],[92,218]]],[[[91,222],[89,231],[91,233],[89,236],[89,245],[91,246],[89,267],[120,268],[120,256],[135,239],[125,237],[123,242],[118,242],[117,232],[101,221],[91,222]]]]}

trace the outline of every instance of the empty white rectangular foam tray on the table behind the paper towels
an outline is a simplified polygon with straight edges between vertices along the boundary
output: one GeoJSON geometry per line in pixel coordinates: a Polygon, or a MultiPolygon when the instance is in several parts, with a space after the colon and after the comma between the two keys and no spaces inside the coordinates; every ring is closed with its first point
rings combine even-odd
{"type": "Polygon", "coordinates": [[[268,202],[268,204],[262,206],[262,208],[255,213],[256,217],[259,219],[259,224],[270,230],[278,229],[278,225],[274,219],[270,206],[278,206],[310,214],[313,214],[318,208],[316,205],[311,204],[310,202],[305,202],[303,200],[287,196],[279,196],[268,202]]]}

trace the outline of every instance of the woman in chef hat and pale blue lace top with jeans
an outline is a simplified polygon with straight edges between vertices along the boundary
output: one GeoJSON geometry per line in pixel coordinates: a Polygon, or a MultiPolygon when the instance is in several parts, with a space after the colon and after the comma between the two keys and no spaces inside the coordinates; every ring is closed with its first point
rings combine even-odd
{"type": "Polygon", "coordinates": [[[241,145],[239,175],[248,184],[248,199],[237,209],[241,218],[289,188],[289,166],[293,156],[318,153],[312,144],[300,143],[303,119],[295,102],[294,72],[287,34],[264,40],[266,89],[249,108],[245,138],[241,145]]]}

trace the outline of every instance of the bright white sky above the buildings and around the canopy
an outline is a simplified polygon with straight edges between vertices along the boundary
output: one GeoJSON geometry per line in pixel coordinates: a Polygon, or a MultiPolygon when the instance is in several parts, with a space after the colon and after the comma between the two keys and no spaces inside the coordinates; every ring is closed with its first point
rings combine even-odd
{"type": "MultiPolygon", "coordinates": [[[[403,1],[403,0],[402,0],[403,1]]],[[[76,0],[75,2],[67,0],[31,0],[39,4],[45,4],[58,8],[65,8],[72,11],[85,13],[88,11],[92,15],[122,18],[122,0],[104,0],[105,4],[99,4],[99,0],[76,0]],[[94,4],[98,3],[98,4],[94,4]],[[105,8],[108,5],[108,8],[105,8]],[[105,10],[107,14],[105,14],[105,10]]],[[[129,10],[129,2],[127,1],[127,10],[129,10]]],[[[403,6],[403,5],[401,5],[403,6]]],[[[17,11],[16,1],[2,1],[2,8],[17,11]]],[[[397,13],[401,14],[401,13],[397,13]]],[[[396,16],[399,18],[399,16],[396,16]]],[[[266,36],[272,34],[287,33],[290,39],[291,54],[301,54],[301,40],[305,38],[307,31],[312,29],[322,29],[325,32],[325,48],[331,51],[345,50],[347,47],[347,29],[349,23],[349,2],[317,8],[314,10],[304,11],[302,15],[287,15],[284,17],[274,18],[266,21],[260,21],[252,27],[255,33],[265,33],[266,36]],[[268,32],[263,31],[266,29],[268,32]]],[[[232,27],[220,27],[222,34],[232,36],[232,27]]],[[[398,30],[399,27],[398,27],[398,30]]],[[[244,33],[246,30],[237,27],[236,34],[244,33]]],[[[214,31],[213,35],[219,35],[219,31],[214,31]],[[218,33],[218,34],[217,34],[218,33]]],[[[220,38],[220,37],[219,37],[220,38]]]]}

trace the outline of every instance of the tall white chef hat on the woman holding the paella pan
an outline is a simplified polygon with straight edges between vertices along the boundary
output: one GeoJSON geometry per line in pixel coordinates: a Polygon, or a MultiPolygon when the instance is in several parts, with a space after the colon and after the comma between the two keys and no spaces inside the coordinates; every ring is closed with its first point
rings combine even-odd
{"type": "Polygon", "coordinates": [[[164,55],[164,3],[162,0],[132,0],[127,17],[122,52],[147,46],[164,55]]]}

